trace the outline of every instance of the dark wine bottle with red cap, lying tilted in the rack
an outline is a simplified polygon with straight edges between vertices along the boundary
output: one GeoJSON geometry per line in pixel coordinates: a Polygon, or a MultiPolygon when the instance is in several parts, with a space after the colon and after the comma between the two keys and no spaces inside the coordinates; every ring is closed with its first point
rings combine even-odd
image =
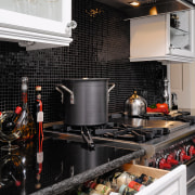
{"type": "Polygon", "coordinates": [[[2,122],[2,132],[4,134],[12,133],[13,129],[15,128],[16,120],[17,120],[17,118],[18,118],[21,113],[22,113],[22,107],[17,106],[15,108],[15,112],[13,113],[13,115],[11,115],[10,117],[5,118],[5,120],[2,122]]]}

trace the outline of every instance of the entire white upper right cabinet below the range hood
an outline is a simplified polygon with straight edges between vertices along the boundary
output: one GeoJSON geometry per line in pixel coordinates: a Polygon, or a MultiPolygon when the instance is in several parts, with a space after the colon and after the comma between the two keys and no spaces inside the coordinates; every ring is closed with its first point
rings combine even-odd
{"type": "Polygon", "coordinates": [[[130,20],[130,61],[193,62],[194,10],[130,20]]]}

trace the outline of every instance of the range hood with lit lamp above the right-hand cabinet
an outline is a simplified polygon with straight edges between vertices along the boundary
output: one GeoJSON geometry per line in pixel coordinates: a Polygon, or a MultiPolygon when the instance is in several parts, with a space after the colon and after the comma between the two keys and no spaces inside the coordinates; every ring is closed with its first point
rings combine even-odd
{"type": "Polygon", "coordinates": [[[114,6],[127,14],[127,17],[142,17],[168,12],[194,9],[195,0],[135,0],[139,6],[130,5],[133,0],[96,0],[114,6]]]}

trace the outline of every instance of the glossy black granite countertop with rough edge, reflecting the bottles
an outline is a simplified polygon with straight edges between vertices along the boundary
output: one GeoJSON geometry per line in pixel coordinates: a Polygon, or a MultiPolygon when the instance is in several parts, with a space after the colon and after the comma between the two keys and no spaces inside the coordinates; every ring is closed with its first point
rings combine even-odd
{"type": "Polygon", "coordinates": [[[1,151],[1,195],[62,194],[145,154],[106,140],[95,140],[95,148],[89,150],[82,139],[60,133],[44,133],[42,142],[16,144],[18,150],[1,151]]]}

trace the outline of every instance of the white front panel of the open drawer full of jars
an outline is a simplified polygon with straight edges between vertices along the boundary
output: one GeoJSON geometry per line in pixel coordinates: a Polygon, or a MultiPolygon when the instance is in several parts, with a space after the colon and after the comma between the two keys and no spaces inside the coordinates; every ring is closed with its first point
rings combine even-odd
{"type": "Polygon", "coordinates": [[[181,165],[136,195],[186,195],[186,166],[181,165]]]}

